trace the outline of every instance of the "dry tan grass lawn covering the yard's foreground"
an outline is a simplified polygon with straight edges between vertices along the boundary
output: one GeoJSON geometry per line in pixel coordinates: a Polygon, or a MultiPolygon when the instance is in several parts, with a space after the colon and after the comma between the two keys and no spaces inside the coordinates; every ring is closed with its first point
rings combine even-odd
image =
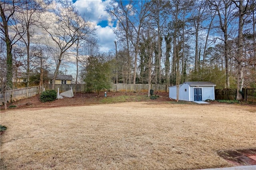
{"type": "Polygon", "coordinates": [[[1,169],[200,169],[256,148],[256,107],[117,103],[1,112],[1,169]]]}

